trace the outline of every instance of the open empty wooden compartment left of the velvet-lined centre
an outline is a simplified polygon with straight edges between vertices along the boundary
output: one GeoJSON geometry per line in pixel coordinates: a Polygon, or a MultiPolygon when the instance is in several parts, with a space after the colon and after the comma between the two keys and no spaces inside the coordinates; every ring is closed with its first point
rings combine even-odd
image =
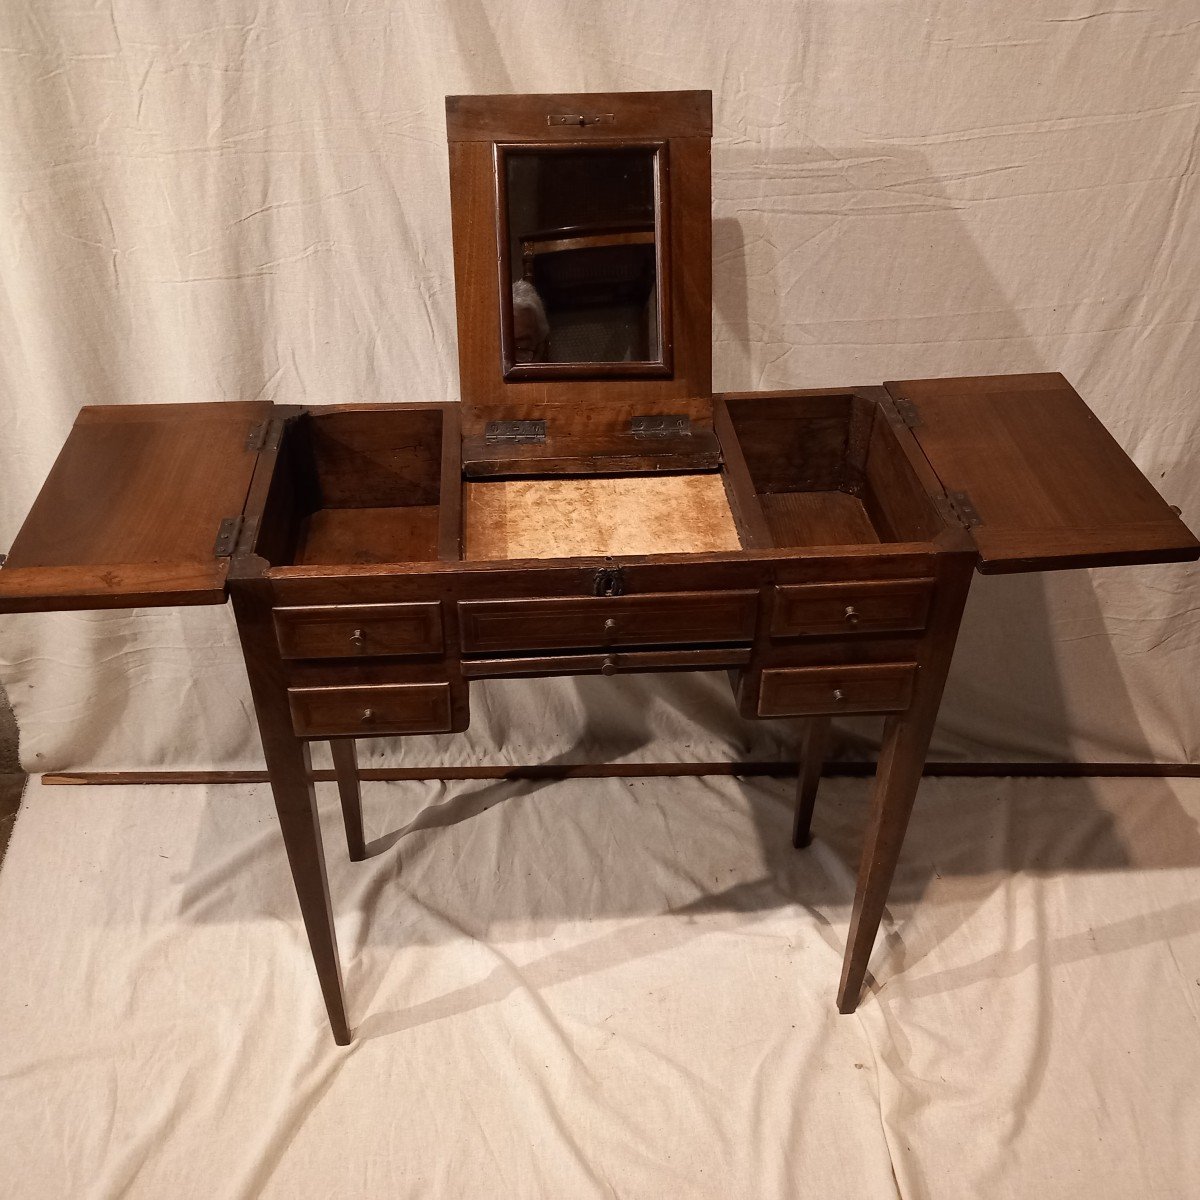
{"type": "Polygon", "coordinates": [[[457,438],[440,406],[306,412],[284,431],[259,552],[277,566],[457,558],[457,438]]]}

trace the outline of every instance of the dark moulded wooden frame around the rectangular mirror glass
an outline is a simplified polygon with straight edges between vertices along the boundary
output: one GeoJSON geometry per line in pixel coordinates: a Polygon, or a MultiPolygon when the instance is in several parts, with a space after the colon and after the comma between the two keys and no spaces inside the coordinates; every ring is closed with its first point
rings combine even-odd
{"type": "Polygon", "coordinates": [[[587,142],[497,142],[492,146],[492,178],[496,181],[496,252],[500,289],[500,371],[506,380],[516,379],[661,379],[671,367],[671,203],[668,143],[662,139],[590,139],[587,142]],[[658,307],[659,353],[654,359],[632,362],[517,362],[512,330],[512,262],[509,250],[510,155],[520,154],[604,154],[606,151],[649,150],[654,173],[654,293],[658,307]]]}

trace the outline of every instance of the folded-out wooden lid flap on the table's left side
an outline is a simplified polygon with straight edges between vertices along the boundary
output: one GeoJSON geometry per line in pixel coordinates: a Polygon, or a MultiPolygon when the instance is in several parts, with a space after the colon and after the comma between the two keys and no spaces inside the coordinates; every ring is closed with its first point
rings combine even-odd
{"type": "Polygon", "coordinates": [[[0,570],[0,612],[221,604],[265,402],[79,412],[0,570]]]}

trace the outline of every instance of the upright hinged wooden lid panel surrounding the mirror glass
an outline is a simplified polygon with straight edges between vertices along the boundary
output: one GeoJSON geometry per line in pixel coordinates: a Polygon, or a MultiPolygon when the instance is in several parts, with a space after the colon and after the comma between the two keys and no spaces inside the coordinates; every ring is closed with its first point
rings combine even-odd
{"type": "Polygon", "coordinates": [[[446,134],[466,473],[715,467],[712,94],[451,96],[446,134]],[[564,113],[605,119],[568,124],[564,113]],[[654,152],[659,354],[634,362],[520,362],[505,301],[510,278],[523,270],[511,263],[504,164],[517,152],[581,150],[654,152]],[[670,448],[644,433],[658,416],[682,433],[666,439],[670,448]],[[528,420],[546,422],[545,442],[486,437],[490,424],[528,420]]]}

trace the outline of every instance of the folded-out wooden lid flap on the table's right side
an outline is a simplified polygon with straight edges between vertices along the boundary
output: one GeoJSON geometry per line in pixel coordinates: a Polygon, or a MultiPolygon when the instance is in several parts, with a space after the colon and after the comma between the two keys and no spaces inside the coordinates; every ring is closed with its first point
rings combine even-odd
{"type": "Polygon", "coordinates": [[[947,491],[970,497],[984,574],[1200,558],[1200,542],[1061,374],[886,386],[908,406],[947,491]]]}

